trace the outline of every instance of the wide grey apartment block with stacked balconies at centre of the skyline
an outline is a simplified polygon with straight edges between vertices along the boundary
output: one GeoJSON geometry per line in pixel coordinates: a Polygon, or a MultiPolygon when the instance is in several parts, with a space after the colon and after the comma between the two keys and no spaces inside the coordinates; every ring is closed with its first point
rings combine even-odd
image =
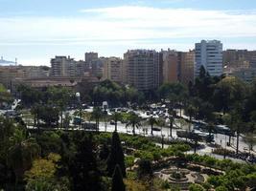
{"type": "Polygon", "coordinates": [[[131,50],[124,54],[127,83],[147,91],[160,84],[160,54],[150,50],[131,50]]]}

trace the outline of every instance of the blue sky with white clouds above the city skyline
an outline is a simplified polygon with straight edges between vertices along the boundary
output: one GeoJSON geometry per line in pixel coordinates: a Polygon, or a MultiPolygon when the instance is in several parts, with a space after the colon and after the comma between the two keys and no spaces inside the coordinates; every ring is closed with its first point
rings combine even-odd
{"type": "Polygon", "coordinates": [[[86,52],[188,51],[201,39],[256,50],[256,1],[0,0],[0,55],[22,65],[86,52]]]}

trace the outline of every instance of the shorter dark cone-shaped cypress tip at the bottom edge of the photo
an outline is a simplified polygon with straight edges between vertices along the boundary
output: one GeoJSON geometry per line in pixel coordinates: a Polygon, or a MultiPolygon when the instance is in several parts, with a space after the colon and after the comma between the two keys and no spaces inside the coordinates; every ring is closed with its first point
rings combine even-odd
{"type": "Polygon", "coordinates": [[[111,191],[125,191],[125,190],[126,190],[126,186],[123,181],[123,176],[122,176],[120,167],[117,164],[115,166],[114,174],[112,177],[111,191]]]}

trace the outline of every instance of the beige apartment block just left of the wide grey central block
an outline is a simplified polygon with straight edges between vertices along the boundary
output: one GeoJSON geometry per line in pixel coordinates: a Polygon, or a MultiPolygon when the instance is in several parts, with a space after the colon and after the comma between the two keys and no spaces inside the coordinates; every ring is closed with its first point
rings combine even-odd
{"type": "Polygon", "coordinates": [[[123,60],[119,57],[108,57],[104,62],[104,79],[121,83],[122,82],[122,64],[123,60]]]}

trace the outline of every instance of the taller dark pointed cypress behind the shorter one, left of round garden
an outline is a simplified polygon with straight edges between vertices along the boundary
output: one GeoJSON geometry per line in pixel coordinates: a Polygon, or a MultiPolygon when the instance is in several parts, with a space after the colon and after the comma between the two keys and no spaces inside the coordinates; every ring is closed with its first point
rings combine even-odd
{"type": "Polygon", "coordinates": [[[113,175],[117,164],[120,166],[123,177],[126,177],[127,174],[123,148],[118,133],[114,131],[112,134],[110,154],[107,159],[107,172],[109,176],[113,175]]]}

